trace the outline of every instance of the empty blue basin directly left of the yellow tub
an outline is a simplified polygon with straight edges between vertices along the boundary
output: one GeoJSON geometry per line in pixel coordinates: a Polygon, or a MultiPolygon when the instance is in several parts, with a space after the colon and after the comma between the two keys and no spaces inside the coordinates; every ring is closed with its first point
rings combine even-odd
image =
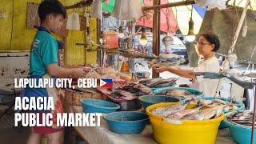
{"type": "Polygon", "coordinates": [[[138,134],[144,130],[148,115],[136,111],[119,111],[103,117],[111,131],[118,134],[138,134]]]}

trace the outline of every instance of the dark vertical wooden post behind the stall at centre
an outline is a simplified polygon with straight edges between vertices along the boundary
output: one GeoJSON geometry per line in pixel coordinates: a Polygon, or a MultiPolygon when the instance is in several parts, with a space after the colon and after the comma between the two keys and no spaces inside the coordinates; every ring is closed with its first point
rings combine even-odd
{"type": "MultiPolygon", "coordinates": [[[[154,0],[153,5],[160,5],[160,0],[154,0]]],[[[160,10],[155,9],[153,14],[153,54],[159,55],[160,51],[160,10]]],[[[158,78],[159,74],[154,73],[152,74],[153,78],[158,78]]]]}

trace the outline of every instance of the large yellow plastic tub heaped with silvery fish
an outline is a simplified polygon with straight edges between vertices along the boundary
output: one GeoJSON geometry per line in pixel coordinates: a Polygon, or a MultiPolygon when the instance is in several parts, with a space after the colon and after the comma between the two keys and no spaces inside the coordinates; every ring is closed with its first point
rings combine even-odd
{"type": "Polygon", "coordinates": [[[224,114],[209,120],[182,120],[181,124],[163,122],[161,116],[151,113],[151,110],[177,104],[177,102],[162,102],[148,106],[146,114],[150,117],[154,138],[162,144],[214,144],[218,126],[224,119],[224,114]]]}

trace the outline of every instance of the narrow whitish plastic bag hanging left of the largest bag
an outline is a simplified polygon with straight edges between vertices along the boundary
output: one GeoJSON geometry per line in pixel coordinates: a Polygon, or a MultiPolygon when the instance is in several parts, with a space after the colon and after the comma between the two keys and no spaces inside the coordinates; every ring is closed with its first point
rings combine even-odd
{"type": "Polygon", "coordinates": [[[90,15],[102,20],[102,2],[100,0],[94,0],[90,15]]]}

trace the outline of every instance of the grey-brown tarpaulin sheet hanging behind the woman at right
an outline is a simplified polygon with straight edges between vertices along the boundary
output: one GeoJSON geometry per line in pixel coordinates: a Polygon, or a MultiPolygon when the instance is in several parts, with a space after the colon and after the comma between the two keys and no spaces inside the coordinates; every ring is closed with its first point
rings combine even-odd
{"type": "MultiPolygon", "coordinates": [[[[199,34],[204,31],[211,30],[218,37],[221,42],[218,53],[227,54],[232,42],[232,35],[238,26],[239,19],[242,15],[241,7],[228,7],[227,10],[210,10],[206,11],[199,34]],[[237,16],[238,15],[238,16],[237,16]]],[[[256,46],[256,22],[254,12],[247,11],[246,23],[248,26],[246,38],[242,37],[242,30],[240,31],[238,41],[234,50],[238,55],[238,60],[250,60],[250,55],[256,46]]],[[[242,25],[243,27],[244,25],[242,25]]],[[[256,62],[256,53],[252,57],[252,61],[256,62]]]]}

